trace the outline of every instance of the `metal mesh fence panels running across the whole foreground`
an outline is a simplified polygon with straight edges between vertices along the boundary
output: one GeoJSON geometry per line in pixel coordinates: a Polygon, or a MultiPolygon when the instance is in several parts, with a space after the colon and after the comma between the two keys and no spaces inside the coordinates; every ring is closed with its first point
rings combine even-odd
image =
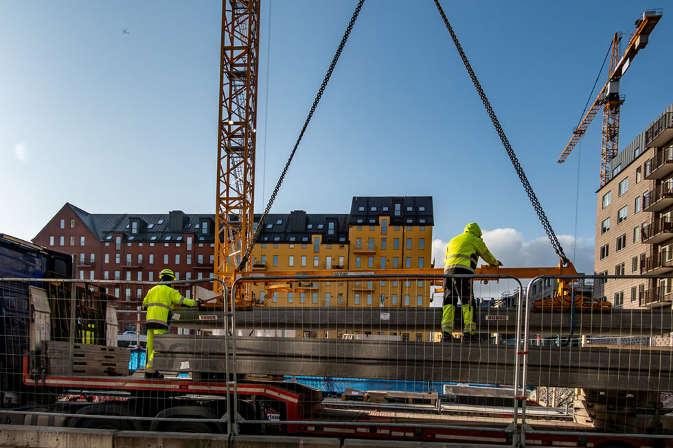
{"type": "Polygon", "coordinates": [[[566,303],[543,301],[558,287],[551,276],[525,290],[477,277],[471,318],[459,301],[443,334],[444,278],[251,276],[226,303],[212,279],[176,282],[207,302],[175,307],[170,331],[154,335],[163,379],[145,372],[141,305],[156,283],[2,279],[0,413],[33,425],[477,445],[669,436],[670,277],[575,276],[566,303]],[[232,307],[241,295],[254,306],[232,307]]]}

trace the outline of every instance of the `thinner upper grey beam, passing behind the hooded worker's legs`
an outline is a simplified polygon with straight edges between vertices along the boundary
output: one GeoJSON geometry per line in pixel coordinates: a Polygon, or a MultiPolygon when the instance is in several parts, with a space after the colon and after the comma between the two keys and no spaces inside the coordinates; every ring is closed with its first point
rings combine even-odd
{"type": "MultiPolygon", "coordinates": [[[[221,311],[181,309],[173,325],[192,329],[224,328],[221,311]],[[210,318],[211,320],[201,320],[210,318]]],[[[456,313],[455,328],[461,326],[456,313]]],[[[343,331],[440,331],[441,308],[390,307],[259,307],[236,311],[236,328],[260,330],[319,329],[343,331]]],[[[475,308],[481,333],[515,333],[516,308],[475,308]]],[[[673,331],[673,314],[663,309],[613,309],[604,313],[575,313],[575,335],[650,336],[673,331]]],[[[568,334],[569,311],[530,314],[531,335],[568,334]]]]}

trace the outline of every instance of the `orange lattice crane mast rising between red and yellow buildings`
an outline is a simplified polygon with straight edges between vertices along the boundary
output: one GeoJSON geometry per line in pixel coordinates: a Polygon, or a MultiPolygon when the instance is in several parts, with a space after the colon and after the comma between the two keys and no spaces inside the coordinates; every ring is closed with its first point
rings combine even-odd
{"type": "Polygon", "coordinates": [[[226,283],[253,233],[259,41],[260,0],[223,0],[214,273],[226,283]]]}

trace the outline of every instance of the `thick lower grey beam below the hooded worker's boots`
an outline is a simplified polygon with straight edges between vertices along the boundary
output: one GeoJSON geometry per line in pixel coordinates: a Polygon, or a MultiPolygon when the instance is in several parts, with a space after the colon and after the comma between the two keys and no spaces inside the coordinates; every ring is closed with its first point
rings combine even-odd
{"type": "MultiPolygon", "coordinates": [[[[231,338],[157,335],[155,366],[225,373],[225,349],[233,348],[231,338]]],[[[239,374],[513,384],[515,356],[514,346],[502,344],[236,338],[239,374]]],[[[527,366],[528,386],[673,390],[673,351],[666,347],[534,346],[527,366]]]]}

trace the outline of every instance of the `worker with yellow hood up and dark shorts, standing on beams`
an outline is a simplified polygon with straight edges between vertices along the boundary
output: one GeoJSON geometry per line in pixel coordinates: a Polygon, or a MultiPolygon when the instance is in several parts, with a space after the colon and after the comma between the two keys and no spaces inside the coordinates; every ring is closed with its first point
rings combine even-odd
{"type": "MultiPolygon", "coordinates": [[[[451,239],[446,246],[444,275],[474,274],[477,262],[481,257],[490,266],[503,266],[481,239],[481,228],[476,222],[465,227],[465,231],[451,239]]],[[[442,303],[442,341],[453,340],[453,318],[458,300],[463,311],[463,342],[479,342],[475,335],[475,310],[472,298],[472,279],[461,277],[444,277],[444,302],[442,303]]]]}

